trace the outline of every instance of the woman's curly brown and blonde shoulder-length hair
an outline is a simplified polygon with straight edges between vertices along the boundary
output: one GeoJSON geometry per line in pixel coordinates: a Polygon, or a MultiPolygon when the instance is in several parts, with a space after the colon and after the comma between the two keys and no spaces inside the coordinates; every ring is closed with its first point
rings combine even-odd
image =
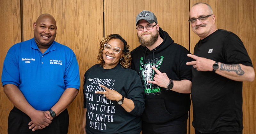
{"type": "Polygon", "coordinates": [[[103,66],[105,63],[103,60],[103,56],[102,56],[102,52],[104,50],[104,44],[113,39],[119,39],[124,43],[124,50],[123,50],[123,54],[122,54],[123,60],[119,59],[119,63],[122,65],[123,68],[130,68],[130,66],[132,64],[131,63],[131,59],[132,59],[131,53],[129,50],[130,46],[127,45],[127,42],[119,34],[109,34],[106,37],[104,37],[102,39],[102,41],[100,41],[100,49],[99,49],[99,53],[97,56],[97,60],[98,60],[98,62],[100,62],[100,66],[103,66]]]}

